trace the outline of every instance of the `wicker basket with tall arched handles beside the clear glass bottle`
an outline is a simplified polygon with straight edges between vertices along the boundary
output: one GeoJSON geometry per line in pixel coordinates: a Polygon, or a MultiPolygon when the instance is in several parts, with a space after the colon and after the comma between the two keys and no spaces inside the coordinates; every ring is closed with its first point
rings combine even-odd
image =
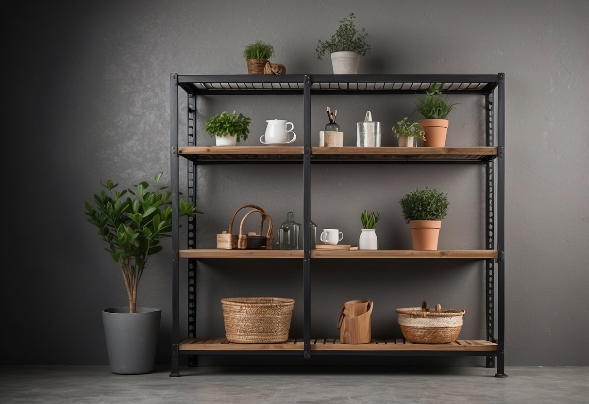
{"type": "Polygon", "coordinates": [[[247,250],[247,249],[266,249],[272,250],[272,241],[274,240],[273,236],[274,231],[274,224],[272,223],[272,218],[270,218],[269,214],[266,213],[261,207],[257,205],[244,205],[233,213],[233,217],[231,217],[231,221],[229,222],[229,230],[223,231],[223,233],[217,234],[217,249],[223,250],[233,250],[233,249],[240,249],[240,250],[247,250]],[[233,221],[237,216],[237,213],[243,208],[253,208],[249,212],[247,212],[243,218],[241,219],[241,223],[239,224],[239,234],[233,234],[233,221]],[[250,236],[249,234],[244,234],[243,232],[243,223],[246,220],[246,217],[252,213],[260,213],[262,216],[262,221],[260,221],[260,230],[258,234],[250,236]],[[264,235],[262,233],[264,228],[264,221],[268,220],[268,230],[264,235]]]}

